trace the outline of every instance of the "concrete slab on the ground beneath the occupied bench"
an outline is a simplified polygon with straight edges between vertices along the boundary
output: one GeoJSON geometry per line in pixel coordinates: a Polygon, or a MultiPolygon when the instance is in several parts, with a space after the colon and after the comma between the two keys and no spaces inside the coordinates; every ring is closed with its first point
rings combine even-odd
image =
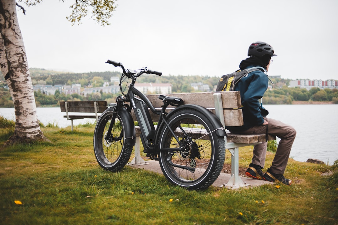
{"type": "MultiPolygon", "coordinates": [[[[132,168],[141,168],[141,169],[145,169],[145,170],[149,170],[155,173],[160,173],[163,174],[161,171],[161,167],[160,167],[160,163],[158,161],[155,160],[149,160],[149,161],[145,161],[145,164],[143,165],[131,165],[130,166],[132,168]]],[[[213,186],[215,187],[221,187],[227,184],[227,182],[230,180],[231,178],[231,174],[228,173],[220,173],[220,175],[218,176],[218,178],[215,180],[213,186]]],[[[240,177],[242,179],[242,181],[244,183],[246,183],[247,185],[249,184],[249,186],[246,187],[258,187],[261,185],[265,185],[265,184],[273,184],[272,182],[269,181],[265,181],[265,180],[258,180],[258,179],[252,179],[249,177],[240,177]]]]}

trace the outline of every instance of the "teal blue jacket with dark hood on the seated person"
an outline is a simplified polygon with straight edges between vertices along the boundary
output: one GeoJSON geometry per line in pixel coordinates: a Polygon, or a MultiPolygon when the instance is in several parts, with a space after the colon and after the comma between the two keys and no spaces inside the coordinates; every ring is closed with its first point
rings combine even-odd
{"type": "MultiPolygon", "coordinates": [[[[258,65],[251,65],[251,68],[258,65]]],[[[246,68],[246,69],[247,69],[246,68]]],[[[259,103],[268,88],[269,79],[262,71],[254,71],[243,77],[235,86],[235,91],[241,92],[242,112],[244,125],[242,126],[226,126],[230,132],[245,131],[253,126],[262,125],[264,123],[263,115],[266,111],[262,110],[259,103]],[[262,115],[263,114],[263,115],[262,115]]]]}

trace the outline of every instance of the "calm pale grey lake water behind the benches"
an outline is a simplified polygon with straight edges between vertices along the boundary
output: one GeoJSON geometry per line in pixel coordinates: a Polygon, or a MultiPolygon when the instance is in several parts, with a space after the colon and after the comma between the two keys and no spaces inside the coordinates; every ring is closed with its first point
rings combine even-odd
{"type": "MultiPolygon", "coordinates": [[[[305,162],[309,158],[333,164],[338,159],[338,105],[264,105],[268,117],[292,125],[297,131],[290,156],[305,162]]],[[[37,108],[43,124],[54,123],[60,128],[71,125],[60,108],[37,108]]],[[[0,115],[15,120],[14,108],[0,108],[0,115]]],[[[95,119],[74,120],[74,125],[95,119]]]]}

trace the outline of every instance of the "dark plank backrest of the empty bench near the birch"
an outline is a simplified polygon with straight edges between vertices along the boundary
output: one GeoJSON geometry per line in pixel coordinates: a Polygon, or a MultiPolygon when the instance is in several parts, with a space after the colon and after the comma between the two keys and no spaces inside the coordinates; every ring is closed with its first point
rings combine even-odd
{"type": "Polygon", "coordinates": [[[84,112],[84,113],[102,113],[107,109],[106,101],[74,101],[74,102],[60,102],[61,112],[84,112]],[[67,110],[66,110],[67,105],[67,110]]]}

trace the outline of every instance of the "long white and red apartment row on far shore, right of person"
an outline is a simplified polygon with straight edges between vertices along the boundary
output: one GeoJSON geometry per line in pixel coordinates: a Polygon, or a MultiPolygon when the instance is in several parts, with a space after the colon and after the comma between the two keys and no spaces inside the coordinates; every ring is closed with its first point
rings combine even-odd
{"type": "Polygon", "coordinates": [[[300,87],[300,88],[306,88],[307,90],[310,90],[313,87],[317,87],[320,89],[324,88],[337,88],[338,89],[338,81],[337,80],[309,80],[309,79],[302,79],[302,80],[294,80],[290,81],[290,87],[300,87]]]}

